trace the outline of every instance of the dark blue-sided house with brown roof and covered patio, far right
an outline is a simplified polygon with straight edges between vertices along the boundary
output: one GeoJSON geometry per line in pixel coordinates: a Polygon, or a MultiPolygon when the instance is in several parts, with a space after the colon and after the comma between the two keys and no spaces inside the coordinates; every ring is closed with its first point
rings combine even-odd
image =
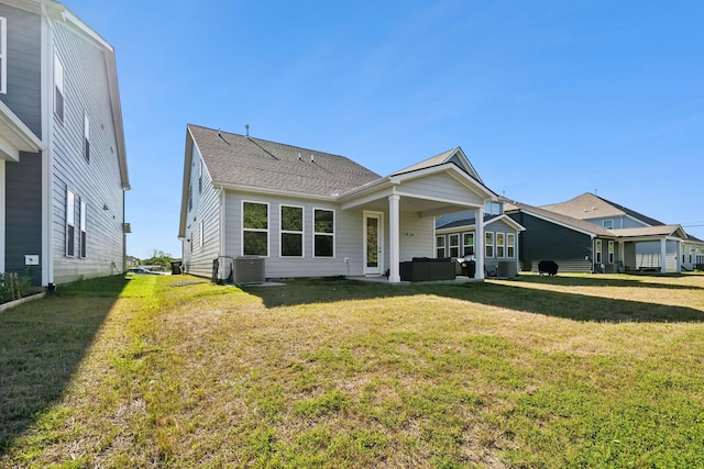
{"type": "Polygon", "coordinates": [[[679,272],[695,265],[684,265],[680,252],[692,246],[695,254],[700,247],[682,226],[667,225],[592,193],[541,208],[514,202],[506,212],[526,226],[521,235],[525,268],[551,259],[562,271],[679,272]]]}

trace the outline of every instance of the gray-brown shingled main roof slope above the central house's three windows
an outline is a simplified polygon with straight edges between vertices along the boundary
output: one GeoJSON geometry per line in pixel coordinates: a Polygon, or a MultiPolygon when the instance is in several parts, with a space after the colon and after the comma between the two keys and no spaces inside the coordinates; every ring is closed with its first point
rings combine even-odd
{"type": "Polygon", "coordinates": [[[381,178],[344,156],[194,124],[187,132],[216,186],[334,197],[381,178]]]}

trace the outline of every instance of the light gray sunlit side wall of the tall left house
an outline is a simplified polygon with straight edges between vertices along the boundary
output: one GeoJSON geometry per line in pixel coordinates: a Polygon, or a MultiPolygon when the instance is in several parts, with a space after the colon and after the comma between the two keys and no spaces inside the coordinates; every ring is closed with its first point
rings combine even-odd
{"type": "MultiPolygon", "coordinates": [[[[64,120],[50,116],[53,136],[54,282],[122,271],[124,203],[117,133],[108,87],[106,55],[91,40],[61,22],[53,23],[55,51],[64,66],[64,120]],[[84,114],[89,118],[90,158],[84,156],[84,114]],[[66,191],[87,203],[87,253],[66,256],[66,191]]],[[[53,109],[53,98],[50,108],[53,109]]]]}

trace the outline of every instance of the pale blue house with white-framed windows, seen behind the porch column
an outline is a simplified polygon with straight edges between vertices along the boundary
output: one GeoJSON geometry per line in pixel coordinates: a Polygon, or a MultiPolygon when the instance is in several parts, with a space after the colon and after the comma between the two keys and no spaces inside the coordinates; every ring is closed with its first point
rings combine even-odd
{"type": "MultiPolygon", "coordinates": [[[[484,212],[484,271],[490,277],[515,277],[521,269],[518,239],[526,228],[504,214],[503,203],[491,202],[484,212]]],[[[441,215],[436,220],[436,256],[476,257],[474,212],[441,215]]]]}

